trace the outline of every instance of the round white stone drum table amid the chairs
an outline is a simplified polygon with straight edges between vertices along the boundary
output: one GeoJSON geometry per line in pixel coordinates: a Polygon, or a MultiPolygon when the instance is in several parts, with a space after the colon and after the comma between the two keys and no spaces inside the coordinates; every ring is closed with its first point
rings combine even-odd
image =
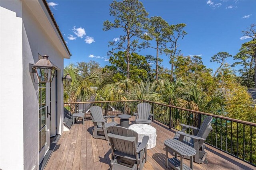
{"type": "Polygon", "coordinates": [[[147,124],[138,123],[130,125],[129,129],[138,133],[138,142],[142,142],[142,138],[144,136],[149,137],[147,149],[151,149],[156,146],[156,128],[147,124]]]}

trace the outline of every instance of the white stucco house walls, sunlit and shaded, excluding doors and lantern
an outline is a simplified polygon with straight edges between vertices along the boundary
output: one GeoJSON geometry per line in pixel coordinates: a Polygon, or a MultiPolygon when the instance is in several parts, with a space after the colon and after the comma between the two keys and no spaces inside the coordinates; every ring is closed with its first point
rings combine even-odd
{"type": "MultiPolygon", "coordinates": [[[[39,169],[38,85],[29,72],[29,63],[38,61],[38,53],[48,55],[59,69],[58,134],[63,131],[62,77],[66,52],[49,35],[49,32],[54,34],[53,28],[46,32],[31,11],[34,6],[29,8],[28,3],[44,5],[36,1],[0,1],[0,169],[3,170],[39,169]]],[[[47,11],[38,12],[43,15],[47,11]]]]}

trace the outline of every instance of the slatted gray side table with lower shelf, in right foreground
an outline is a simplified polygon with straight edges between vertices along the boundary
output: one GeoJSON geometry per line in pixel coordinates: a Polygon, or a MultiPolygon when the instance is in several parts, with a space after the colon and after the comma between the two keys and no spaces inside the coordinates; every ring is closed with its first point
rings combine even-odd
{"type": "Polygon", "coordinates": [[[170,162],[171,167],[175,170],[192,170],[193,169],[193,156],[196,154],[196,150],[177,139],[167,139],[164,141],[165,146],[165,161],[166,168],[168,168],[168,162],[170,162]],[[168,149],[171,149],[175,152],[175,157],[168,159],[168,149]],[[180,155],[180,160],[177,159],[177,154],[180,155]],[[183,158],[185,156],[190,156],[190,167],[183,164],[183,158]]]}

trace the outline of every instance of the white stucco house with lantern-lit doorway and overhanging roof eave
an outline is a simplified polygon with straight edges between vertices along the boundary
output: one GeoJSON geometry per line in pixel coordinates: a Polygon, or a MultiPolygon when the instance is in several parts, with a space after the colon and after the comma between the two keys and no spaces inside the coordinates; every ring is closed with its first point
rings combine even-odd
{"type": "Polygon", "coordinates": [[[0,169],[39,170],[50,137],[62,134],[64,59],[70,52],[45,0],[0,0],[0,169]],[[34,82],[30,63],[40,55],[57,68],[52,83],[34,82]]]}

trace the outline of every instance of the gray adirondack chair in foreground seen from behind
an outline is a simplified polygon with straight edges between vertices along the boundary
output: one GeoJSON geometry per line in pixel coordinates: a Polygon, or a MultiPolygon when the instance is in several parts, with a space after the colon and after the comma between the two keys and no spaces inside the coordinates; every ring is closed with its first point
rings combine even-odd
{"type": "Polygon", "coordinates": [[[108,127],[108,138],[112,151],[112,170],[142,170],[147,161],[148,136],[138,143],[138,133],[120,127],[108,127]]]}

